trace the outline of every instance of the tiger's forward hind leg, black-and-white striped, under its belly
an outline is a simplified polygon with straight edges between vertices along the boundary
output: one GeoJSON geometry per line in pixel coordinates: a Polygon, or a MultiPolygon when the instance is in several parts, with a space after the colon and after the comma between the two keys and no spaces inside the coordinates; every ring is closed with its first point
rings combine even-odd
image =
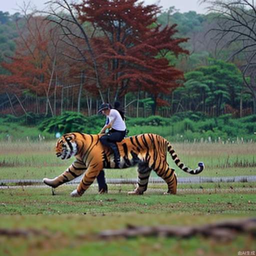
{"type": "Polygon", "coordinates": [[[129,191],[128,194],[143,194],[147,189],[148,179],[151,172],[151,168],[148,167],[147,163],[138,163],[138,176],[137,176],[137,187],[133,191],[129,191]]]}

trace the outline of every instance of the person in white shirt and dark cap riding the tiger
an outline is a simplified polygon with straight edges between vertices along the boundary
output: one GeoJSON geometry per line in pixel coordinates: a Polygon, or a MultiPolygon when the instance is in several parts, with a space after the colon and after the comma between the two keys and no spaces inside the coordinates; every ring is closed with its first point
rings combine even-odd
{"type": "Polygon", "coordinates": [[[111,108],[109,103],[102,103],[98,112],[101,112],[106,116],[105,125],[100,130],[99,134],[105,133],[105,130],[109,129],[108,134],[103,135],[99,140],[103,145],[108,146],[113,150],[115,168],[118,168],[120,154],[116,142],[120,142],[126,133],[124,116],[117,109],[111,108]]]}

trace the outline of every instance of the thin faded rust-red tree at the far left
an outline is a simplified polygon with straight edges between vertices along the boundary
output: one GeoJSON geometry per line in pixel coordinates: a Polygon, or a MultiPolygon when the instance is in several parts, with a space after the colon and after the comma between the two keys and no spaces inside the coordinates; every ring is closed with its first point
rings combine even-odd
{"type": "MultiPolygon", "coordinates": [[[[19,29],[17,23],[19,38],[16,40],[14,56],[9,57],[10,62],[1,63],[10,72],[10,75],[2,77],[5,89],[17,96],[24,92],[35,95],[35,112],[40,111],[38,98],[45,97],[46,109],[49,105],[53,114],[49,102],[49,85],[55,60],[49,47],[50,27],[44,17],[40,16],[24,16],[22,21],[25,21],[23,29],[19,29]]],[[[25,111],[24,107],[22,108],[25,111]]]]}

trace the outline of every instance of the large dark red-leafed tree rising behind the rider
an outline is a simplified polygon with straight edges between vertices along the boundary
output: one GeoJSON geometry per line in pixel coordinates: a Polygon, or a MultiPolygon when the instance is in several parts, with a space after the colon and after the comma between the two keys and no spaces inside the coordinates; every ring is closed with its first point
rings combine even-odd
{"type": "Polygon", "coordinates": [[[187,39],[174,37],[175,25],[155,24],[159,7],[138,0],[83,0],[74,7],[80,22],[94,27],[91,44],[108,101],[144,90],[157,102],[160,93],[179,85],[182,72],[169,65],[165,54],[187,53],[179,46],[187,39]]]}

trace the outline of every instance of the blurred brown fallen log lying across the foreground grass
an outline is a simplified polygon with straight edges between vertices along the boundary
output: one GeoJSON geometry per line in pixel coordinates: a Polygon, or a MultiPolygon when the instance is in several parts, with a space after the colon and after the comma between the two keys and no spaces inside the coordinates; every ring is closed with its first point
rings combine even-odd
{"type": "MultiPolygon", "coordinates": [[[[256,238],[256,218],[236,219],[222,221],[203,226],[134,226],[127,225],[122,229],[103,230],[98,234],[79,234],[80,238],[90,240],[108,240],[116,238],[132,238],[137,236],[163,236],[163,237],[177,237],[190,238],[195,235],[201,235],[206,238],[213,238],[221,241],[232,240],[237,234],[243,233],[251,235],[253,239],[256,238]]],[[[0,228],[0,235],[10,237],[27,237],[29,235],[41,235],[51,237],[53,234],[47,230],[38,229],[8,229],[0,228]]]]}

